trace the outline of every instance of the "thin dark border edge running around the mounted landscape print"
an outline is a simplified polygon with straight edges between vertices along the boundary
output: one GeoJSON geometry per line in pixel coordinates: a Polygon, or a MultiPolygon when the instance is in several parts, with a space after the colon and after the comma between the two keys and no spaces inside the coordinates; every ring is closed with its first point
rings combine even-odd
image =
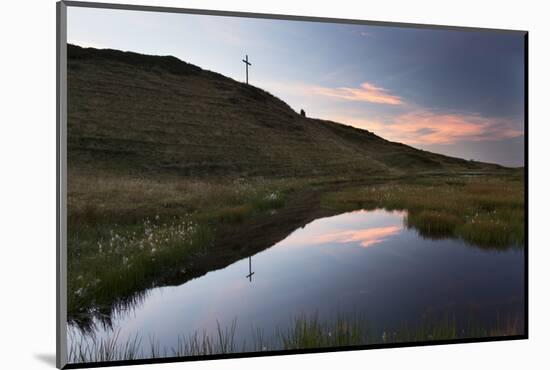
{"type": "Polygon", "coordinates": [[[204,10],[204,9],[186,9],[161,6],[146,6],[146,5],[129,5],[129,4],[110,4],[97,2],[83,1],[59,1],[56,4],[57,11],[57,212],[56,212],[56,227],[57,227],[57,251],[56,251],[56,291],[57,291],[57,309],[56,309],[56,366],[59,369],[68,368],[83,368],[83,367],[103,367],[103,366],[120,366],[120,365],[137,365],[137,364],[153,364],[167,362],[182,362],[182,361],[197,361],[197,360],[214,360],[227,358],[243,358],[243,357],[260,357],[260,356],[276,356],[289,354],[305,354],[319,352],[338,352],[352,351],[375,348],[402,348],[402,347],[418,347],[427,345],[442,345],[442,344],[458,344],[458,343],[480,343],[480,342],[495,342],[502,340],[518,340],[528,339],[529,333],[529,207],[528,207],[528,31],[525,30],[508,30],[480,27],[458,27],[446,25],[429,25],[415,23],[399,23],[399,22],[381,22],[355,19],[339,19],[339,18],[324,18],[324,17],[309,17],[296,15],[282,14],[265,14],[265,13],[248,13],[248,12],[231,12],[220,10],[204,10]],[[437,30],[457,30],[457,31],[475,31],[475,32],[502,32],[502,33],[519,33],[524,35],[524,181],[525,181],[525,334],[504,337],[485,337],[471,339],[456,339],[443,341],[425,341],[425,342],[405,342],[398,344],[376,344],[362,345],[353,347],[332,347],[304,350],[283,350],[272,352],[247,352],[224,355],[208,355],[194,357],[166,357],[157,359],[143,359],[131,361],[112,361],[112,362],[94,362],[94,363],[79,363],[68,364],[67,361],[67,7],[84,7],[84,8],[99,8],[99,9],[118,9],[130,11],[145,11],[145,12],[162,12],[162,13],[180,13],[180,14],[198,14],[198,15],[214,15],[224,17],[241,17],[241,18],[263,18],[263,19],[279,19],[291,21],[305,22],[324,22],[324,23],[341,23],[341,24],[358,24],[358,25],[374,25],[374,26],[389,26],[389,27],[404,27],[404,28],[422,28],[422,29],[437,29],[437,30]]]}

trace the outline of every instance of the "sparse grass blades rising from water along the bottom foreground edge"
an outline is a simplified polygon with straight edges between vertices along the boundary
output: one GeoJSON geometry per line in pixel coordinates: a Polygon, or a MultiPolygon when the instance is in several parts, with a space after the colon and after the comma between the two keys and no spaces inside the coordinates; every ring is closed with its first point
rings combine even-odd
{"type": "Polygon", "coordinates": [[[443,341],[467,338],[514,336],[523,333],[522,320],[517,317],[498,321],[484,326],[475,320],[458,324],[448,317],[417,325],[401,325],[393,330],[384,329],[374,332],[369,329],[366,320],[358,316],[339,316],[336,320],[321,321],[317,315],[297,316],[291,319],[286,330],[277,330],[266,337],[259,328],[251,328],[249,341],[246,338],[238,342],[236,338],[237,321],[222,328],[217,322],[214,333],[195,332],[180,336],[175,347],[161,346],[150,336],[143,343],[139,336],[120,340],[119,333],[105,339],[73,337],[68,348],[69,363],[89,363],[97,361],[135,360],[160,357],[207,356],[215,354],[322,349],[331,347],[349,347],[369,344],[397,344],[404,342],[443,341]]]}

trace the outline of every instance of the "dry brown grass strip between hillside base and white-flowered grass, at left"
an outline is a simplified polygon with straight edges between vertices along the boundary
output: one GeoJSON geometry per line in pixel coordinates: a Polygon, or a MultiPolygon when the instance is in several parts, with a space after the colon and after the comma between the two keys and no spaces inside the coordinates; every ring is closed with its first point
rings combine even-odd
{"type": "MultiPolygon", "coordinates": [[[[208,217],[221,208],[248,205],[253,213],[284,204],[297,180],[258,178],[178,178],[110,172],[69,172],[69,226],[132,224],[159,215],[186,213],[208,217]]],[[[70,230],[69,230],[70,231],[70,230]]]]}

